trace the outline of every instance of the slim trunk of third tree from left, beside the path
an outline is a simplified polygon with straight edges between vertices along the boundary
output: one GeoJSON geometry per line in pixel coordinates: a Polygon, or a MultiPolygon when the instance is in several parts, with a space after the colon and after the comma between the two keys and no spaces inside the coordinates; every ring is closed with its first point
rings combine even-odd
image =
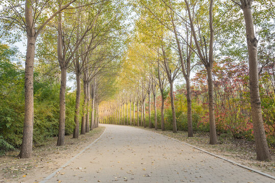
{"type": "Polygon", "coordinates": [[[77,77],[77,96],[76,96],[76,111],[74,112],[74,123],[76,126],[73,129],[72,138],[79,137],[79,107],[80,107],[80,95],[81,95],[81,86],[80,86],[80,74],[76,74],[77,77]]]}

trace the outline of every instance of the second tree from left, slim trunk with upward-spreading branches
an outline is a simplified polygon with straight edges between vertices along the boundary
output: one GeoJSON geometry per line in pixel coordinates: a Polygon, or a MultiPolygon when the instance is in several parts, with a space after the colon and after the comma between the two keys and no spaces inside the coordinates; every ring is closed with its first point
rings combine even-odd
{"type": "MultiPolygon", "coordinates": [[[[59,7],[62,5],[59,4],[59,7]]],[[[99,11],[96,13],[96,16],[101,12],[101,8],[99,8],[99,11]]],[[[78,24],[76,22],[70,22],[71,24],[67,23],[64,24],[63,19],[70,18],[70,16],[73,16],[74,12],[70,12],[70,14],[67,14],[66,16],[62,16],[60,13],[57,19],[57,31],[58,31],[58,41],[57,41],[57,55],[58,55],[58,62],[61,69],[61,86],[60,86],[60,114],[59,114],[59,135],[57,139],[57,145],[64,145],[65,143],[65,90],[66,90],[66,75],[67,75],[67,69],[70,67],[72,63],[72,59],[74,54],[79,50],[81,44],[87,37],[88,33],[91,31],[91,29],[94,27],[94,23],[96,18],[91,18],[89,15],[87,15],[87,26],[84,28],[83,32],[79,32],[78,24]],[[74,39],[74,34],[72,33],[79,33],[77,34],[78,38],[74,39]],[[81,34],[81,35],[80,35],[81,34]]],[[[86,89],[86,83],[85,83],[85,89],[86,89]]],[[[84,91],[85,91],[84,89],[84,91]]],[[[86,95],[87,96],[87,95],[86,95]]],[[[87,99],[85,98],[85,102],[87,99]]],[[[86,120],[85,120],[86,121],[86,120]]],[[[86,131],[86,129],[85,129],[86,131]]]]}

